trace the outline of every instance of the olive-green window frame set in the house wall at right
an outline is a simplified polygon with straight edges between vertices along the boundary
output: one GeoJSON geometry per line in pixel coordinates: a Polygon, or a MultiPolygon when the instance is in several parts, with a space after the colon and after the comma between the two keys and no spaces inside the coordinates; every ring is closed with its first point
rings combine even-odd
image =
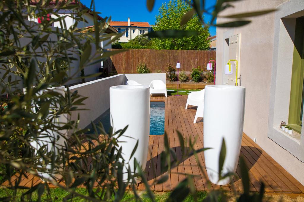
{"type": "Polygon", "coordinates": [[[304,104],[304,16],[295,23],[288,126],[301,133],[304,104]]]}

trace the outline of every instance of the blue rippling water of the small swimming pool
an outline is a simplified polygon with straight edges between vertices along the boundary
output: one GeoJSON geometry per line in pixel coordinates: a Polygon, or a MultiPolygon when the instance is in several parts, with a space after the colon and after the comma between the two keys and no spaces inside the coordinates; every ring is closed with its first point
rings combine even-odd
{"type": "MultiPolygon", "coordinates": [[[[101,114],[93,121],[96,125],[102,122],[105,132],[109,132],[110,122],[110,109],[101,114]]],[[[90,129],[87,134],[93,134],[94,130],[92,124],[86,128],[90,129]]],[[[150,135],[162,135],[165,132],[165,103],[164,102],[150,102],[150,135]]],[[[98,130],[98,133],[100,131],[98,130]]]]}

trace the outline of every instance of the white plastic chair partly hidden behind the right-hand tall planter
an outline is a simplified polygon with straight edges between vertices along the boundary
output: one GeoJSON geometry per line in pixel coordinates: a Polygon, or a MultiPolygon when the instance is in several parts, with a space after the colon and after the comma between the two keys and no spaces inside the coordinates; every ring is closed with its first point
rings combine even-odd
{"type": "Polygon", "coordinates": [[[196,119],[198,117],[204,118],[204,97],[205,97],[205,89],[201,91],[196,91],[189,93],[186,108],[188,107],[188,104],[197,106],[196,114],[193,123],[196,123],[196,119]]]}

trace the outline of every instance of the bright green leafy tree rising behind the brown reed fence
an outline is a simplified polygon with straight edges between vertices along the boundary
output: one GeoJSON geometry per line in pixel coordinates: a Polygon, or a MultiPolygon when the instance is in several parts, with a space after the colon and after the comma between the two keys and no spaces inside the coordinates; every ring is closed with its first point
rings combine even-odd
{"type": "Polygon", "coordinates": [[[197,31],[197,35],[183,38],[152,38],[152,48],[174,50],[207,50],[210,41],[209,27],[203,26],[197,15],[194,15],[185,25],[181,25],[183,15],[191,11],[191,6],[183,0],[170,0],[163,3],[156,16],[154,31],[185,30],[197,31]]]}

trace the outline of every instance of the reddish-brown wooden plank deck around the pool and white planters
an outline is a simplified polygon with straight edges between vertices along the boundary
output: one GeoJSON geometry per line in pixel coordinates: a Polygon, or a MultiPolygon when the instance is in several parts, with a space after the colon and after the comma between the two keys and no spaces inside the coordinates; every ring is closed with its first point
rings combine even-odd
{"type": "MultiPolygon", "coordinates": [[[[170,147],[173,148],[176,156],[181,158],[181,147],[179,145],[176,130],[180,131],[185,138],[194,138],[198,135],[195,148],[203,147],[203,122],[199,118],[196,124],[193,124],[193,119],[196,112],[196,107],[188,106],[185,110],[187,95],[180,97],[168,96],[152,96],[151,101],[165,101],[165,131],[169,137],[170,147]]],[[[204,173],[200,172],[197,166],[197,161],[194,156],[191,156],[182,161],[178,166],[171,169],[169,179],[163,184],[154,184],[155,178],[161,178],[163,173],[160,171],[160,154],[164,150],[164,136],[150,135],[149,139],[149,155],[146,166],[146,177],[148,183],[155,191],[171,191],[178,185],[179,182],[185,179],[185,174],[195,175],[196,190],[212,190],[218,189],[220,186],[210,185],[207,183],[206,170],[204,173]]],[[[258,191],[261,186],[261,181],[265,184],[266,193],[285,193],[285,194],[299,194],[304,193],[304,186],[300,184],[294,177],[291,176],[282,166],[280,166],[274,159],[272,159],[265,151],[254,143],[246,134],[243,135],[241,156],[245,157],[247,167],[250,175],[250,190],[258,191]]],[[[204,165],[204,153],[198,155],[199,161],[204,165]]],[[[221,186],[227,191],[242,191],[242,183],[240,180],[240,169],[237,168],[236,177],[230,185],[221,186]]],[[[12,177],[12,180],[16,177],[12,177]]],[[[21,186],[30,186],[32,183],[38,184],[40,179],[28,175],[27,178],[21,182],[21,186]]],[[[8,181],[2,185],[7,186],[8,181]]],[[[144,184],[138,185],[138,190],[145,189],[144,184]]]]}

